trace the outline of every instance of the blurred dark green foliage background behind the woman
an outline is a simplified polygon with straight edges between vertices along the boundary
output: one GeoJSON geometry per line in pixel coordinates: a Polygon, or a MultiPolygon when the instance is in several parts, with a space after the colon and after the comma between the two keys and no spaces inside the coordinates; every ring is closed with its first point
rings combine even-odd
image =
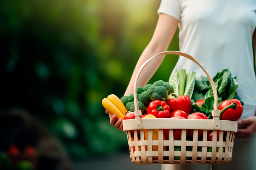
{"type": "MultiPolygon", "coordinates": [[[[127,150],[101,100],[122,97],[153,34],[160,0],[2,0],[1,110],[39,119],[72,159],[127,150]]],[[[177,33],[169,47],[178,50],[177,33]]],[[[166,57],[151,82],[168,77],[166,57]]]]}

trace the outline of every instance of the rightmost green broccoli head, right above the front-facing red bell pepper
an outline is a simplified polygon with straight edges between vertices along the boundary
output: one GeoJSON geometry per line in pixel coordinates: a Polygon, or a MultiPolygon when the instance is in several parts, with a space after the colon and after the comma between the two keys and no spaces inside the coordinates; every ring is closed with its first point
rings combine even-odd
{"type": "Polygon", "coordinates": [[[148,87],[147,95],[151,100],[163,100],[173,92],[173,86],[171,86],[168,82],[158,80],[148,87]]]}

